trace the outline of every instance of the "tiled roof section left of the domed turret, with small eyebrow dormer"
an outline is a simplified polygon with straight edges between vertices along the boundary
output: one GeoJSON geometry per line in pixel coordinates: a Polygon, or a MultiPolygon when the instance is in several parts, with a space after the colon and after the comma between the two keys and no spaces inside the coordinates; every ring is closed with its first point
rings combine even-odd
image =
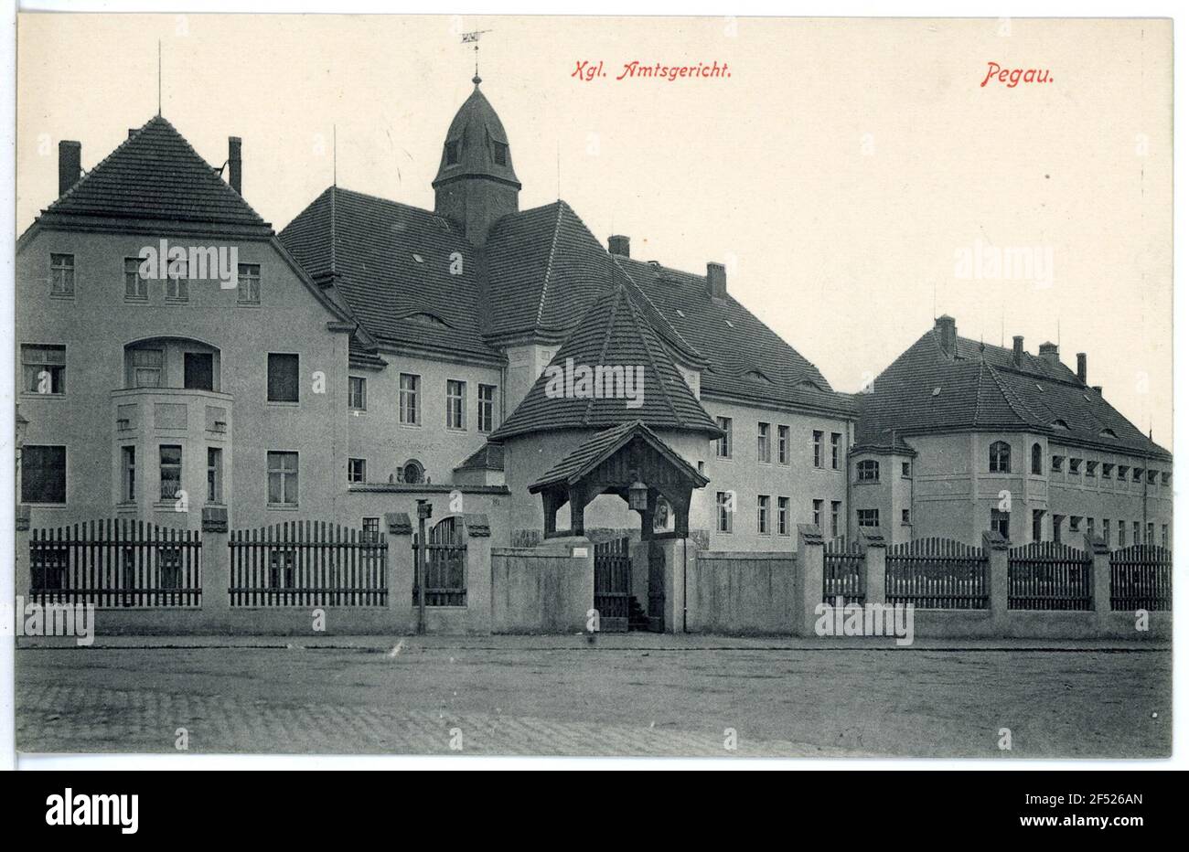
{"type": "Polygon", "coordinates": [[[474,247],[446,219],[331,187],[281,242],[315,280],[333,283],[377,342],[501,358],[480,330],[474,247]]]}

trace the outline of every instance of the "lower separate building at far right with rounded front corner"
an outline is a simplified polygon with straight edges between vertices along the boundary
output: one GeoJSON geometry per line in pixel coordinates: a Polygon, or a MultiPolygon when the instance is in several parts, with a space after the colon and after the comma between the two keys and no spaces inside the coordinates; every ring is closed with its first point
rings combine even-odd
{"type": "Polygon", "coordinates": [[[995,529],[1013,543],[1169,547],[1172,457],[1087,384],[1057,346],[1038,355],[936,324],[858,395],[850,454],[854,523],[892,542],[969,544],[995,529]]]}

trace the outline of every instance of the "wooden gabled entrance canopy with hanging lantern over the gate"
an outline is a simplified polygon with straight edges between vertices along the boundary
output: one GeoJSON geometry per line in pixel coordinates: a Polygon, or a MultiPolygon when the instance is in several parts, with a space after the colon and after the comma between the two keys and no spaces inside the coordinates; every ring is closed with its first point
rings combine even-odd
{"type": "Polygon", "coordinates": [[[592,435],[528,490],[541,494],[547,538],[585,535],[587,504],[599,494],[618,494],[630,506],[633,492],[640,503],[642,538],[686,538],[691,493],[709,481],[643,422],[630,421],[592,435]],[[673,511],[673,531],[665,534],[653,531],[662,497],[673,511]],[[570,530],[559,532],[556,513],[566,503],[570,530]]]}

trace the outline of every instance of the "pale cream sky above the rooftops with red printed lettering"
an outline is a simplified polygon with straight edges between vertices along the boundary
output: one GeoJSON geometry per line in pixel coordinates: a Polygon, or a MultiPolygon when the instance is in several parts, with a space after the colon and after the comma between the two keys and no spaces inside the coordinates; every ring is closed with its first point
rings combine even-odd
{"type": "Polygon", "coordinates": [[[158,40],[162,113],[215,165],[244,139],[244,196],[278,231],[335,168],[432,208],[473,30],[521,209],[560,194],[635,258],[724,263],[841,391],[939,314],[1086,352],[1171,449],[1170,21],[23,14],[17,229],[56,197],[58,140],[90,169],[157,112],[158,40]],[[617,80],[633,61],[730,74],[617,80]],[[1020,82],[982,86],[988,63],[1020,82]]]}

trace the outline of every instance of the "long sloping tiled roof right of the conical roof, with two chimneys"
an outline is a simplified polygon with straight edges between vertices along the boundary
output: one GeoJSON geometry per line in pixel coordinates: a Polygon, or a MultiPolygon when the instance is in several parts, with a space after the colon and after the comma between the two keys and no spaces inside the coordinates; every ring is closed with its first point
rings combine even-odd
{"type": "Polygon", "coordinates": [[[702,389],[754,402],[826,408],[853,415],[822,372],[730,294],[711,298],[705,276],[617,257],[681,336],[710,360],[702,389]]]}

